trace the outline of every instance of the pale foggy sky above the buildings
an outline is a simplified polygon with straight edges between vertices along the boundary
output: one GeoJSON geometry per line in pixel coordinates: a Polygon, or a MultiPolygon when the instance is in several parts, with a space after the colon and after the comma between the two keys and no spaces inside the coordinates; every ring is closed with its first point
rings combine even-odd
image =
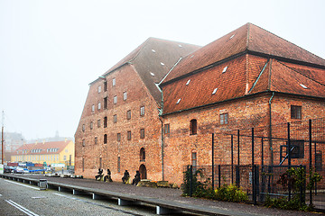
{"type": "Polygon", "coordinates": [[[204,46],[254,23],[325,58],[324,9],[322,0],[0,0],[5,130],[73,137],[88,83],[149,37],[204,46]]]}

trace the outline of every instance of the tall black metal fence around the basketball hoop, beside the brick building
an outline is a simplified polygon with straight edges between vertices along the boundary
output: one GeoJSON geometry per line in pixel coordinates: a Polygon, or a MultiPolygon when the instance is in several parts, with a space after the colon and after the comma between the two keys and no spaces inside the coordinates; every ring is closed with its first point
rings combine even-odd
{"type": "Polygon", "coordinates": [[[211,140],[212,166],[186,167],[200,169],[198,181],[213,188],[237,184],[253,202],[264,202],[266,196],[290,199],[294,193],[278,182],[288,169],[300,166],[306,170],[306,184],[312,172],[322,176],[314,189],[302,188],[301,199],[325,210],[325,119],[228,130],[212,134],[211,140]]]}

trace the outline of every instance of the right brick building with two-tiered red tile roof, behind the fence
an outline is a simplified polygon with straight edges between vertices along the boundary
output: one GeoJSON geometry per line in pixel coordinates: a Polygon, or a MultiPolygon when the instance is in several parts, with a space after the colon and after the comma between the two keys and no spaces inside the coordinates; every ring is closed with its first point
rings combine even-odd
{"type": "MultiPolygon", "coordinates": [[[[183,166],[211,165],[211,133],[325,117],[325,60],[251,23],[182,58],[161,86],[172,182],[183,166]]],[[[230,148],[218,144],[215,162],[229,165],[230,148]]]]}

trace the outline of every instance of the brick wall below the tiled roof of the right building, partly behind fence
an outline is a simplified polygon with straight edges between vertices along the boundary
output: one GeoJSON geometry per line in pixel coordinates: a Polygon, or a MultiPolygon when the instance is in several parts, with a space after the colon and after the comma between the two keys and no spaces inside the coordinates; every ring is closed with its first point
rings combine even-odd
{"type": "MultiPolygon", "coordinates": [[[[192,152],[197,153],[197,165],[211,165],[211,133],[230,132],[230,130],[242,130],[248,134],[246,138],[240,139],[240,164],[248,165],[252,161],[251,128],[255,133],[268,137],[269,134],[269,100],[272,94],[258,94],[255,97],[247,97],[228,103],[219,103],[212,107],[201,108],[186,112],[179,112],[164,116],[164,124],[170,124],[170,134],[164,138],[164,164],[165,178],[171,182],[182,182],[183,166],[190,165],[192,152]],[[220,125],[220,114],[228,113],[228,124],[220,125]],[[190,121],[196,119],[198,133],[190,135],[190,121]],[[179,159],[175,159],[179,158],[179,159]]],[[[302,120],[324,118],[325,103],[319,100],[311,100],[299,97],[288,97],[275,94],[272,100],[272,124],[297,121],[291,119],[291,105],[302,106],[302,120]]],[[[232,131],[234,132],[234,131],[232,131]]],[[[286,132],[284,128],[275,129],[275,133],[286,132]]],[[[235,133],[236,134],[236,133],[235,133]]],[[[284,137],[285,138],[285,137],[284,137]]],[[[230,136],[227,139],[215,137],[215,164],[231,164],[230,136]]],[[[236,139],[236,138],[235,138],[236,139]]],[[[234,140],[234,163],[237,164],[237,140],[234,140]]],[[[255,163],[261,164],[261,140],[255,140],[255,163]]],[[[274,143],[276,145],[276,143],[274,143]]],[[[269,141],[264,142],[265,164],[270,163],[271,152],[269,141]]],[[[305,149],[309,146],[305,145],[305,149]]],[[[307,154],[307,153],[306,153],[307,154]]],[[[274,150],[274,158],[278,162],[279,149],[274,150]]],[[[306,163],[307,157],[300,162],[306,163]]],[[[298,160],[298,159],[296,159],[298,160]]],[[[294,162],[298,163],[298,162],[294,162]]]]}

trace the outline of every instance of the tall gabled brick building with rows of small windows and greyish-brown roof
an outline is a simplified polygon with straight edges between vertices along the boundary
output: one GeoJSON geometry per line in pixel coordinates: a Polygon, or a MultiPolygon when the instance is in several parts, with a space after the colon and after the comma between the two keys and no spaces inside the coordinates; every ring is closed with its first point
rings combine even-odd
{"type": "MultiPolygon", "coordinates": [[[[159,83],[181,57],[198,46],[149,38],[89,84],[75,134],[78,175],[93,178],[109,168],[121,181],[140,170],[162,178],[162,92],[159,83]]],[[[106,171],[105,171],[106,173],[106,171]]]]}

